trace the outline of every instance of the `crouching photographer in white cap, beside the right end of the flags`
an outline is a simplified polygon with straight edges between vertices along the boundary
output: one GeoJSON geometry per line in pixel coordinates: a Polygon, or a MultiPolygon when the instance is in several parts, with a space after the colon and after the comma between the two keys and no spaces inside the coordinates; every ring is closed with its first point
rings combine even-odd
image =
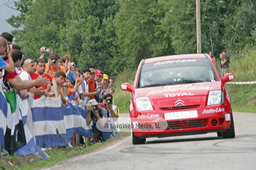
{"type": "Polygon", "coordinates": [[[87,103],[88,111],[90,111],[91,115],[91,121],[93,123],[92,125],[92,137],[94,142],[98,142],[98,135],[101,134],[102,142],[107,141],[110,139],[110,132],[102,132],[100,131],[96,124],[97,121],[102,125],[102,127],[105,127],[105,123],[107,123],[107,108],[103,106],[102,104],[97,103],[95,99],[92,99],[88,101],[87,103]]]}

